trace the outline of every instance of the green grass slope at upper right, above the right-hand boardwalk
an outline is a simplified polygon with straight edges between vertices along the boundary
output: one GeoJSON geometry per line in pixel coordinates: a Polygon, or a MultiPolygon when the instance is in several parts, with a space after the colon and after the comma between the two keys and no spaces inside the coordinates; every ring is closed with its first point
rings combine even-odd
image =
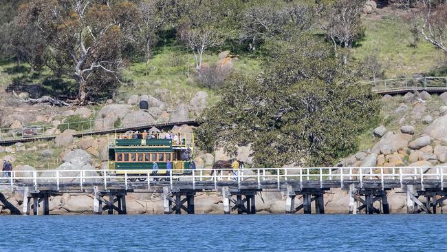
{"type": "Polygon", "coordinates": [[[386,78],[430,72],[445,59],[441,51],[423,38],[419,39],[417,47],[411,46],[413,34],[408,22],[400,17],[364,18],[362,21],[365,36],[353,49],[353,57],[364,59],[378,54],[386,78]]]}

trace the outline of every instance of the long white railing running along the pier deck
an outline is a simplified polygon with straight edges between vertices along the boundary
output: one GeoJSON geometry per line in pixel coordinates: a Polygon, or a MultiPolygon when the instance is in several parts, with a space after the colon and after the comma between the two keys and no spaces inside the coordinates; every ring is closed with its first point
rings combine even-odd
{"type": "MultiPolygon", "coordinates": [[[[339,185],[356,182],[363,187],[365,182],[380,182],[382,188],[386,183],[399,183],[400,187],[408,182],[417,183],[424,188],[426,182],[439,182],[441,189],[444,188],[444,174],[447,167],[305,167],[305,168],[251,168],[251,169],[221,169],[221,174],[211,175],[212,169],[184,169],[188,174],[176,174],[176,170],[149,169],[149,170],[119,170],[122,174],[116,174],[116,170],[47,170],[47,171],[10,171],[12,178],[0,178],[0,185],[8,185],[11,189],[21,186],[39,187],[53,186],[59,189],[61,185],[79,186],[81,189],[85,185],[120,185],[128,189],[129,185],[144,185],[149,189],[152,185],[157,185],[160,180],[169,182],[173,187],[174,180],[188,181],[193,189],[197,183],[211,182],[215,189],[220,181],[237,182],[238,188],[241,185],[257,185],[259,189],[263,187],[265,181],[271,187],[275,185],[277,189],[281,187],[281,182],[299,182],[301,188],[304,183],[319,183],[324,187],[325,183],[339,185]],[[157,171],[157,174],[155,174],[157,171]],[[429,171],[429,172],[428,172],[429,171]],[[233,174],[235,172],[235,174],[233,174]],[[129,180],[144,180],[131,182],[129,180]],[[254,182],[254,183],[253,183],[254,182]]],[[[3,171],[4,175],[5,171],[3,171]]]]}

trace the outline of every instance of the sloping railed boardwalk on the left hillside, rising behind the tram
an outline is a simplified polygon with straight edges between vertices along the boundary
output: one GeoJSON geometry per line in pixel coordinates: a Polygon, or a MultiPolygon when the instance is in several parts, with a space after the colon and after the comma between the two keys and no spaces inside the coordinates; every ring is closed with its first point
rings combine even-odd
{"type": "MultiPolygon", "coordinates": [[[[203,109],[203,108],[198,108],[203,109]]],[[[132,125],[125,126],[115,126],[113,127],[104,127],[104,124],[108,123],[109,118],[100,118],[95,120],[83,120],[78,122],[71,123],[62,123],[61,125],[28,125],[23,126],[21,128],[0,128],[0,142],[1,141],[11,141],[11,140],[23,140],[30,138],[54,138],[58,136],[58,134],[45,134],[47,129],[54,129],[58,127],[64,127],[67,129],[76,128],[76,134],[99,134],[101,132],[121,132],[123,129],[131,129],[138,127],[145,127],[151,125],[166,125],[166,124],[176,124],[176,123],[184,123],[185,121],[193,121],[196,119],[195,113],[196,109],[177,109],[177,110],[166,110],[156,113],[151,113],[156,120],[148,123],[134,123],[132,125]],[[160,118],[163,113],[173,113],[173,112],[184,112],[185,114],[182,116],[182,120],[171,120],[171,118],[160,118]],[[186,120],[185,120],[186,119],[186,120]],[[80,126],[79,126],[80,125],[80,126]],[[85,125],[85,127],[84,127],[85,125]],[[96,126],[98,125],[98,126],[96,126]],[[80,127],[80,129],[78,129],[80,127]]]]}

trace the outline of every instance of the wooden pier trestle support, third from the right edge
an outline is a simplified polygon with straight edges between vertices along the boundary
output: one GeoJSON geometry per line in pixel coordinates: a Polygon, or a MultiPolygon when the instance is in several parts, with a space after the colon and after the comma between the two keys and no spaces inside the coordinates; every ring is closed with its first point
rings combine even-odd
{"type": "Polygon", "coordinates": [[[285,191],[285,213],[296,213],[303,209],[305,214],[312,213],[312,202],[315,202],[315,213],[323,214],[325,213],[325,200],[324,200],[325,189],[308,189],[295,191],[292,186],[287,186],[287,191],[285,191]],[[303,198],[303,203],[295,207],[296,196],[301,195],[303,198]]]}

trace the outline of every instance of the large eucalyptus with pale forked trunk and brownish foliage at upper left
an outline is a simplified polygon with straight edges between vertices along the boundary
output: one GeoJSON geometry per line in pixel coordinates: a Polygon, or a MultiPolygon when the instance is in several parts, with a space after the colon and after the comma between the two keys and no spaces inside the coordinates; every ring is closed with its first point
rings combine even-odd
{"type": "Polygon", "coordinates": [[[17,23],[35,25],[45,39],[50,68],[76,80],[80,104],[120,83],[122,43],[132,39],[139,20],[133,3],[100,0],[32,0],[17,16],[17,23]],[[113,81],[101,80],[109,77],[113,81]]]}

